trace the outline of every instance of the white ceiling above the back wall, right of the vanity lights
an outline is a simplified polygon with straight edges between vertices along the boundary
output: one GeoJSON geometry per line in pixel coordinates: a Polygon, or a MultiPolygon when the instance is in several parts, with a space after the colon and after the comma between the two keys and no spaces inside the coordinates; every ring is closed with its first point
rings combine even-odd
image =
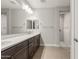
{"type": "Polygon", "coordinates": [[[70,5],[70,0],[28,0],[33,8],[53,8],[70,5]]]}

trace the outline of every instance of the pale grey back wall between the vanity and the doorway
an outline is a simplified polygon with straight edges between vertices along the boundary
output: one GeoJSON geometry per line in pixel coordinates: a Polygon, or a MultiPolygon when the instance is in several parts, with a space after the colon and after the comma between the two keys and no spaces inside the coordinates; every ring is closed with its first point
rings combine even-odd
{"type": "Polygon", "coordinates": [[[59,43],[59,12],[56,8],[35,9],[39,16],[41,45],[56,46],[59,43]]]}

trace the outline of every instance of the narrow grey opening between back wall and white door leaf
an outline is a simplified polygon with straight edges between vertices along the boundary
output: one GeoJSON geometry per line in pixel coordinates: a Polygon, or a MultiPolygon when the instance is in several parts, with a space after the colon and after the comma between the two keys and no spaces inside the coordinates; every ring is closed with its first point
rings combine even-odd
{"type": "Polygon", "coordinates": [[[60,46],[62,46],[64,43],[64,14],[60,14],[59,41],[60,41],[60,46]]]}

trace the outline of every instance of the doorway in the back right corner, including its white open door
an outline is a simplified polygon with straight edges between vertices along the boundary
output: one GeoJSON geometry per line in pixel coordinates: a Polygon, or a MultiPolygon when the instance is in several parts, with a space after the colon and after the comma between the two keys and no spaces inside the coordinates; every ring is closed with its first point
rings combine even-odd
{"type": "Polygon", "coordinates": [[[61,47],[70,46],[70,12],[60,14],[59,39],[61,47]]]}

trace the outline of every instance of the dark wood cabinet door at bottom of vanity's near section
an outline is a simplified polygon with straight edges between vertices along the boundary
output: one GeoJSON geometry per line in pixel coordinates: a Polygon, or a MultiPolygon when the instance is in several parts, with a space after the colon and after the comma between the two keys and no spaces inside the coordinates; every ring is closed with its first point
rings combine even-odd
{"type": "Polygon", "coordinates": [[[18,51],[14,56],[12,56],[12,59],[28,59],[28,48],[23,48],[18,51]]]}

